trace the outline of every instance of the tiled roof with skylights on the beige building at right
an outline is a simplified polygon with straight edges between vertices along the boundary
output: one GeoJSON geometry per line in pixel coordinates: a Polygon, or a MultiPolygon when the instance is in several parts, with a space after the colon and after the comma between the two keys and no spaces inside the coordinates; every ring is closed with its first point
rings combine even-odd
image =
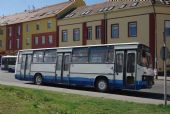
{"type": "Polygon", "coordinates": [[[105,13],[105,12],[111,12],[111,11],[118,11],[118,10],[125,10],[125,9],[132,9],[132,8],[138,8],[138,7],[144,7],[144,6],[151,6],[152,4],[158,4],[163,5],[168,3],[161,2],[156,0],[155,2],[152,2],[151,0],[146,1],[132,1],[132,0],[121,0],[121,1],[106,1],[104,3],[95,4],[91,6],[81,6],[77,9],[75,9],[70,14],[66,15],[65,18],[76,18],[80,16],[88,16],[98,13],[105,13]]]}

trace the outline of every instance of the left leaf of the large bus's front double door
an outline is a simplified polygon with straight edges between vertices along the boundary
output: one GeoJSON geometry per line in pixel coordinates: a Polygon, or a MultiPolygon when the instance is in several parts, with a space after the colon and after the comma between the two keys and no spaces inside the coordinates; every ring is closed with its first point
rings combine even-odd
{"type": "Polygon", "coordinates": [[[124,87],[124,51],[116,51],[115,54],[115,87],[124,87]]]}

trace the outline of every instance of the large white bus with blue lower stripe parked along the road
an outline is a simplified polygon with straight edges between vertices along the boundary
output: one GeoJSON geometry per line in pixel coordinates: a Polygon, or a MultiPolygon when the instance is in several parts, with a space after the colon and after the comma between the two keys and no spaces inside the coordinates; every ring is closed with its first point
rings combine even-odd
{"type": "Polygon", "coordinates": [[[15,78],[109,89],[142,89],[154,84],[149,48],[139,43],[28,49],[18,52],[15,78]]]}

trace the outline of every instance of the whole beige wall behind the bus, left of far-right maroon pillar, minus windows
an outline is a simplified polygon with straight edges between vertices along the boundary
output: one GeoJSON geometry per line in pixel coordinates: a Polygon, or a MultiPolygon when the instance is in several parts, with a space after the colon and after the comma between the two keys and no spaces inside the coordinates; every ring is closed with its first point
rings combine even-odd
{"type": "MultiPolygon", "coordinates": [[[[78,27],[81,30],[81,39],[83,39],[82,27],[85,23],[85,26],[92,26],[92,40],[84,41],[86,45],[95,45],[101,44],[103,38],[105,38],[104,43],[124,43],[124,42],[140,42],[149,46],[149,14],[152,12],[152,7],[143,7],[138,9],[129,9],[129,10],[119,10],[108,13],[98,13],[89,16],[80,16],[76,18],[66,18],[58,20],[59,26],[59,38],[60,46],[72,46],[72,45],[82,45],[83,42],[73,42],[73,29],[78,27]],[[104,20],[104,21],[103,21],[104,20]],[[104,31],[102,31],[103,37],[101,40],[97,40],[95,36],[95,27],[98,25],[104,24],[103,22],[107,21],[107,35],[104,37],[104,31]],[[129,38],[128,37],[128,22],[137,22],[137,37],[129,38]],[[119,38],[111,38],[111,24],[119,24],[119,38]],[[62,42],[62,30],[68,30],[68,41],[62,42]]],[[[86,35],[87,36],[87,35],[86,35]]],[[[87,39],[87,38],[86,38],[87,39]]]]}

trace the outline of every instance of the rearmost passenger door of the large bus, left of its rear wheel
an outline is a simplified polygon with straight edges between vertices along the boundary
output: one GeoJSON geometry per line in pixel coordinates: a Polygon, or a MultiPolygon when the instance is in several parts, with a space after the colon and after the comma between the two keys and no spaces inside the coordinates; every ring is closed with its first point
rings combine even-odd
{"type": "Polygon", "coordinates": [[[31,66],[32,55],[25,54],[22,55],[21,62],[21,78],[25,80],[30,80],[30,66],[31,66]]]}

